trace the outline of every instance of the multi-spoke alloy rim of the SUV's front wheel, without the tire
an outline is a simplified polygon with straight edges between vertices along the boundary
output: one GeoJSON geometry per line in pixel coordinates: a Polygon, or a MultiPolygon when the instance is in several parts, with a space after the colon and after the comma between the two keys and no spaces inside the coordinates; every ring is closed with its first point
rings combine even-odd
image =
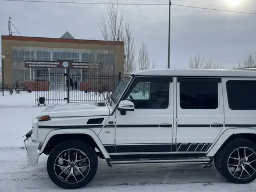
{"type": "Polygon", "coordinates": [[[90,170],[90,161],[87,155],[77,149],[62,151],[55,159],[54,172],[65,183],[81,182],[90,170]]]}

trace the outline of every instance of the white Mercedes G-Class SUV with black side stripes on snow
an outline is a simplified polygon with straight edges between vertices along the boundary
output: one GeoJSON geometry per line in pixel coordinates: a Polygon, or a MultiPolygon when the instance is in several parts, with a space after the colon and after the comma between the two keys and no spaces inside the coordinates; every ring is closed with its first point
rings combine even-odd
{"type": "Polygon", "coordinates": [[[256,73],[158,69],[125,74],[107,101],[49,107],[24,144],[29,163],[48,156],[57,186],[91,182],[108,166],[214,162],[232,183],[256,178],[256,73]]]}

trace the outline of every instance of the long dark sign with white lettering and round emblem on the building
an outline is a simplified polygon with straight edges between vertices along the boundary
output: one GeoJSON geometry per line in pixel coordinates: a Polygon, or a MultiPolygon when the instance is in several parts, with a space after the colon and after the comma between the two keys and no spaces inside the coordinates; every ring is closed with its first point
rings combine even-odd
{"type": "Polygon", "coordinates": [[[74,61],[24,61],[26,68],[99,69],[100,63],[74,61]]]}

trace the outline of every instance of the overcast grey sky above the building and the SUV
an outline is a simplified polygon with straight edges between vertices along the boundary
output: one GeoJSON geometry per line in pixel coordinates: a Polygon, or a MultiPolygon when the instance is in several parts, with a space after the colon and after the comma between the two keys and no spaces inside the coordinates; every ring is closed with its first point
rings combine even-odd
{"type": "MultiPolygon", "coordinates": [[[[63,0],[59,0],[63,1],[63,0]]],[[[71,0],[70,0],[71,1],[71,0]]],[[[106,0],[72,0],[106,2],[106,0]]],[[[180,5],[256,13],[256,0],[173,0],[180,5]],[[228,3],[229,2],[229,3],[228,3]]],[[[123,0],[126,3],[168,3],[168,0],[123,0]]],[[[168,5],[120,5],[138,52],[147,44],[156,68],[167,67],[168,5]]],[[[70,5],[12,2],[0,0],[0,34],[8,35],[8,16],[24,36],[56,37],[69,31],[74,38],[92,39],[100,35],[99,17],[106,5],[70,5]]],[[[256,51],[256,15],[172,6],[171,67],[189,67],[191,56],[221,62],[225,69],[243,61],[248,51],[256,51]]],[[[137,55],[136,55],[137,56],[137,55]]]]}

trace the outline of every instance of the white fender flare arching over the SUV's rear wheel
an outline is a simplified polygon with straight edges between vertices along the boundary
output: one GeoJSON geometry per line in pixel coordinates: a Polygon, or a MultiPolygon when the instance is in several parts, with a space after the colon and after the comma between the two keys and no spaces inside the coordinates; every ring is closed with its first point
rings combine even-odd
{"type": "Polygon", "coordinates": [[[256,135],[256,129],[252,127],[243,127],[243,128],[239,127],[239,128],[231,128],[231,129],[225,130],[221,134],[221,136],[219,136],[218,140],[216,140],[215,143],[212,144],[211,148],[209,148],[206,156],[214,157],[214,155],[219,150],[219,148],[221,148],[223,143],[225,143],[226,140],[234,134],[255,134],[256,135]]]}

